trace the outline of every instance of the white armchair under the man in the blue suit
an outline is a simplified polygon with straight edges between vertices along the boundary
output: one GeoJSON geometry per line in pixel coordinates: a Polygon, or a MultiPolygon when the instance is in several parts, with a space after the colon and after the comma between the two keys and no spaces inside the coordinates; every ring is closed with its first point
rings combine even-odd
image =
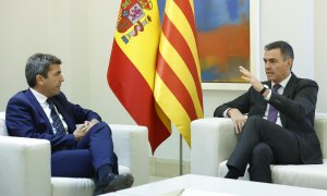
{"type": "MultiPolygon", "coordinates": [[[[120,173],[130,172],[134,186],[148,183],[147,128],[110,124],[120,173]]],[[[0,112],[0,195],[90,196],[90,179],[51,177],[50,143],[8,136],[4,112],[0,112]]]]}

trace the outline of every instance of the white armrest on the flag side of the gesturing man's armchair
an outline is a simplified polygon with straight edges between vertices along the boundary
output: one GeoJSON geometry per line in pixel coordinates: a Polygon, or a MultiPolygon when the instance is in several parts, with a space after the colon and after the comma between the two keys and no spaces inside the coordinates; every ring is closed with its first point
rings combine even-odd
{"type": "Polygon", "coordinates": [[[192,121],[191,173],[218,176],[218,167],[237,145],[233,123],[227,118],[192,121]]]}

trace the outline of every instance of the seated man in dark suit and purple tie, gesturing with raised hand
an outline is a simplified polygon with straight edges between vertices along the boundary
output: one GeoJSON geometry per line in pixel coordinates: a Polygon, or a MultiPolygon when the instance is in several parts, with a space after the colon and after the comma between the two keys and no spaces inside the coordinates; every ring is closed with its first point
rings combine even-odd
{"type": "Polygon", "coordinates": [[[270,164],[323,162],[314,130],[318,85],[291,72],[293,59],[293,49],[288,42],[267,45],[264,61],[268,81],[261,83],[240,66],[242,78],[252,86],[215,110],[215,117],[231,118],[239,134],[227,162],[226,177],[243,176],[250,163],[251,181],[271,183],[270,164]]]}

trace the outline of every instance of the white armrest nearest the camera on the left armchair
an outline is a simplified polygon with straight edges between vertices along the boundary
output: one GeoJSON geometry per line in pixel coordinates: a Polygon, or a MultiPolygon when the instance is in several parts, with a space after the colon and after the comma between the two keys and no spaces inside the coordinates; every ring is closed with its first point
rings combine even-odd
{"type": "Polygon", "coordinates": [[[0,136],[1,195],[51,195],[50,143],[0,136]]]}

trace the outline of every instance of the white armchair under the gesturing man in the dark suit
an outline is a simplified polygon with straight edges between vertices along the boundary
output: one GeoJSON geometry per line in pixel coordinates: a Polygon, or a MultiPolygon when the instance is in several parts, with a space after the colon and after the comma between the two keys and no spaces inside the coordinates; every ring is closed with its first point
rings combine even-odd
{"type": "MultiPolygon", "coordinates": [[[[324,164],[271,166],[272,183],[327,189],[327,113],[316,113],[315,130],[324,164]]],[[[238,137],[227,118],[207,118],[191,123],[191,173],[223,177],[238,137]]],[[[249,180],[245,172],[243,180],[249,180]]]]}

